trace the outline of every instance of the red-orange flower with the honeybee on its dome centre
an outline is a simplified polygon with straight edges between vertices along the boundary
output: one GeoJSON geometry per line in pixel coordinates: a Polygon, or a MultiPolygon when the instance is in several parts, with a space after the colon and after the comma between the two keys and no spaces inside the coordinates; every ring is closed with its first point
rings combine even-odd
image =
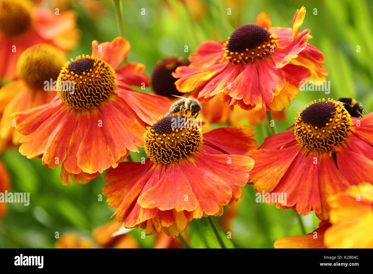
{"type": "Polygon", "coordinates": [[[245,150],[257,143],[249,126],[202,133],[194,119],[160,117],[144,134],[148,160],[122,162],[107,171],[103,194],[125,227],[176,237],[188,221],[232,207],[253,168],[245,150]],[[190,126],[190,127],[189,127],[190,126]],[[232,155],[231,155],[232,154],[232,155]]]}

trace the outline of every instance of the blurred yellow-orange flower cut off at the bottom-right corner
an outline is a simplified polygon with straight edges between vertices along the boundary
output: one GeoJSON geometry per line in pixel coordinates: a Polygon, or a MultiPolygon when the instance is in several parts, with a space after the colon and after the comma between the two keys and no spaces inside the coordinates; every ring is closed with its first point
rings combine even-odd
{"type": "Polygon", "coordinates": [[[331,223],[307,235],[278,239],[275,248],[373,248],[373,186],[350,186],[328,203],[331,223]]]}

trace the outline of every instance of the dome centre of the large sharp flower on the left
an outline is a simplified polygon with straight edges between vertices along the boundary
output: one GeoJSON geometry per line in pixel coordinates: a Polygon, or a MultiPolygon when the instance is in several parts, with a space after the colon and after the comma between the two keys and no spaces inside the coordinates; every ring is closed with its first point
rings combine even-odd
{"type": "Polygon", "coordinates": [[[71,61],[58,76],[61,100],[77,110],[87,110],[107,100],[116,85],[112,67],[99,57],[84,54],[71,61]]]}

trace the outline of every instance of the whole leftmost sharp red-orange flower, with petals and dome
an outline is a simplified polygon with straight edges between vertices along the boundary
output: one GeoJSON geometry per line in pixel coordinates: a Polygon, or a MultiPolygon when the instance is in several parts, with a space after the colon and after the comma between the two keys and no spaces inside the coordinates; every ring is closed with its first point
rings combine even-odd
{"type": "Polygon", "coordinates": [[[138,152],[144,127],[166,113],[167,98],[138,92],[129,85],[148,86],[143,64],[129,62],[130,44],[122,37],[98,45],[92,56],[67,62],[57,79],[56,96],[49,104],[12,114],[17,130],[26,135],[22,155],[42,157],[45,166],[61,165],[61,182],[88,183],[110,166],[138,152]],[[154,105],[157,107],[154,108],[154,105]]]}

